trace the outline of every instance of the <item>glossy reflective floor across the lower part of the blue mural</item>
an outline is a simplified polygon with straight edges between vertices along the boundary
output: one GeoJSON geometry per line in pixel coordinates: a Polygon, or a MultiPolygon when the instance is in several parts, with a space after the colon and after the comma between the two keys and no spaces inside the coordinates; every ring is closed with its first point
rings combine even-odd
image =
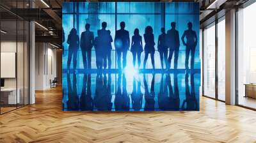
{"type": "Polygon", "coordinates": [[[199,110],[200,73],[64,73],[63,110],[199,110]]]}

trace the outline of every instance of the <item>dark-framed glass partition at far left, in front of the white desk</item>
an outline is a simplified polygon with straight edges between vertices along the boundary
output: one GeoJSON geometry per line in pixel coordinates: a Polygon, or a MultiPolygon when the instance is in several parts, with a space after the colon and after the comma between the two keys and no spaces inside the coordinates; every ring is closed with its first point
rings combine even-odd
{"type": "MultiPolygon", "coordinates": [[[[0,4],[10,4],[0,1],[0,4]]],[[[15,8],[28,8],[28,1],[12,1],[15,8]]],[[[0,114],[29,104],[29,22],[0,8],[0,114]],[[8,15],[8,16],[6,16],[8,15]]]]}

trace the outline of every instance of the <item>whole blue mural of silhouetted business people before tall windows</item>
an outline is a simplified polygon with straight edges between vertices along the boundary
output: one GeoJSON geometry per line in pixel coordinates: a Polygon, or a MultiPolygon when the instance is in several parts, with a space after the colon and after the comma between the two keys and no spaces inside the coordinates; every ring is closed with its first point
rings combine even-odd
{"type": "Polygon", "coordinates": [[[63,110],[199,110],[198,3],[62,7],[63,110]]]}

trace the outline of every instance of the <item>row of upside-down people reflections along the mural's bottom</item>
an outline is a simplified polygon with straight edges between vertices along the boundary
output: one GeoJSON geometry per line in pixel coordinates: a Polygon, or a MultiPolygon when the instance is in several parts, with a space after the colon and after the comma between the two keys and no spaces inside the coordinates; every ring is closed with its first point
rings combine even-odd
{"type": "Polygon", "coordinates": [[[155,90],[156,80],[154,73],[152,73],[150,86],[145,74],[143,75],[142,83],[133,77],[131,93],[127,91],[125,74],[118,74],[115,93],[112,93],[113,90],[111,90],[111,73],[97,74],[95,88],[92,88],[92,81],[94,80],[92,77],[94,76],[91,76],[91,74],[83,75],[83,86],[81,86],[81,96],[79,96],[76,73],[67,74],[67,94],[65,94],[68,96],[66,102],[67,110],[199,110],[194,74],[185,74],[185,88],[182,88],[181,93],[177,73],[173,74],[173,82],[170,74],[161,74],[160,86],[156,86],[159,87],[159,90],[155,90]],[[71,82],[71,77],[73,82],[71,82]],[[144,92],[141,91],[143,87],[144,92]],[[92,89],[95,89],[95,94],[93,94],[92,89]],[[159,92],[156,93],[156,91],[159,92]],[[143,97],[145,100],[144,106],[143,97]]]}

